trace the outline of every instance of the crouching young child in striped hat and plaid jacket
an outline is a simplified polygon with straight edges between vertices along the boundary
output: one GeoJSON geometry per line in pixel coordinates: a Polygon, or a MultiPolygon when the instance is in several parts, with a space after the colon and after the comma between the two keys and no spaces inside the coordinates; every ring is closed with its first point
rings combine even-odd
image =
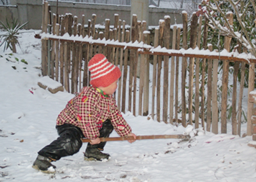
{"type": "Polygon", "coordinates": [[[38,152],[33,168],[46,173],[55,173],[56,166],[52,161],[63,156],[77,153],[81,146],[81,138],[89,138],[85,160],[109,159],[110,155],[102,153],[106,142],[100,137],[109,137],[113,129],[119,136],[136,136],[131,127],[118,111],[113,94],[117,89],[117,81],[121,71],[111,64],[103,54],[96,54],[88,64],[91,73],[90,87],[68,101],[65,109],[57,117],[56,129],[59,137],[38,152]]]}

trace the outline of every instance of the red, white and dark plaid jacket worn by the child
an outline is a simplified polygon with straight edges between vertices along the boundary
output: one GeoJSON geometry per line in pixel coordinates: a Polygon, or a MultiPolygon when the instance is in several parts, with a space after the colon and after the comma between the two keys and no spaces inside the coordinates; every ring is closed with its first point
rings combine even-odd
{"type": "Polygon", "coordinates": [[[111,120],[119,136],[127,136],[131,133],[131,127],[119,112],[112,95],[108,98],[96,88],[84,87],[60,112],[57,125],[78,126],[86,138],[96,139],[100,136],[102,123],[107,119],[111,120]]]}

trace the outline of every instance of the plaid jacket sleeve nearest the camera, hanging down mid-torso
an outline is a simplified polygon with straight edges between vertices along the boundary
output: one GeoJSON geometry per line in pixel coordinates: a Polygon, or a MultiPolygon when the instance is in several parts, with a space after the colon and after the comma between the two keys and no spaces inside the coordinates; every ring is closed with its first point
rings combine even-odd
{"type": "Polygon", "coordinates": [[[97,101],[91,92],[84,92],[77,99],[77,121],[86,138],[96,139],[100,136],[95,120],[97,101]]]}

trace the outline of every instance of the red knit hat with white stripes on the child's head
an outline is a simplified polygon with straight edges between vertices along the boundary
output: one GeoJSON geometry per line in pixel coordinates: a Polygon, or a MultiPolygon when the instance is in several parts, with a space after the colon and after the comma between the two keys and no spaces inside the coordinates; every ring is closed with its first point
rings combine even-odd
{"type": "Polygon", "coordinates": [[[93,87],[108,87],[121,77],[119,67],[110,63],[103,54],[96,54],[89,61],[90,84],[93,87]]]}

